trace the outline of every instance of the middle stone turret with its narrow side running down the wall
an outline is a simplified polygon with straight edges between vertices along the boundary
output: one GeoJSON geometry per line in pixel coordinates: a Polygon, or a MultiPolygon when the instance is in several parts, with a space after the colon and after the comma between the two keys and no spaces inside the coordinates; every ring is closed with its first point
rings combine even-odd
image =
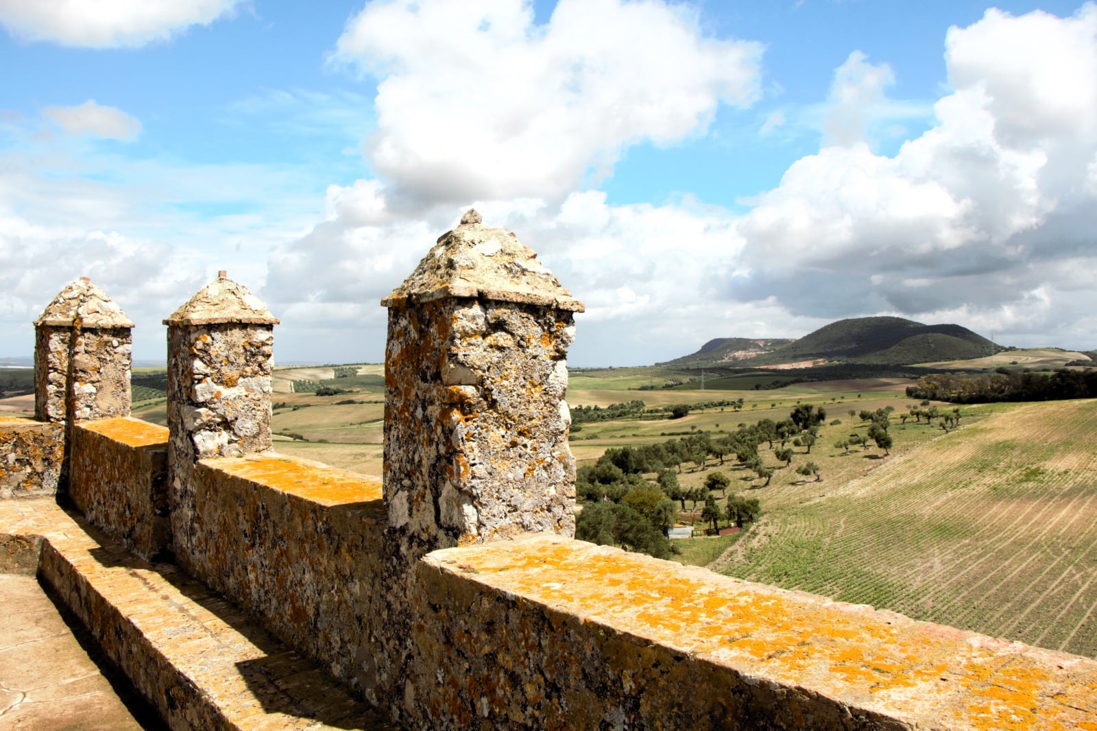
{"type": "Polygon", "coordinates": [[[194,463],[271,447],[274,317],[220,271],[168,326],[168,496],[177,558],[194,530],[194,463]]]}

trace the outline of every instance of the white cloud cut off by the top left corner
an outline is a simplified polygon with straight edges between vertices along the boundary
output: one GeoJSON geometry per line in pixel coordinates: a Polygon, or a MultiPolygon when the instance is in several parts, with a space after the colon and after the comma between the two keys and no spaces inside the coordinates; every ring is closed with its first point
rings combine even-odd
{"type": "Polygon", "coordinates": [[[64,46],[137,47],[191,25],[208,25],[241,0],[0,0],[0,24],[15,37],[64,46]]]}

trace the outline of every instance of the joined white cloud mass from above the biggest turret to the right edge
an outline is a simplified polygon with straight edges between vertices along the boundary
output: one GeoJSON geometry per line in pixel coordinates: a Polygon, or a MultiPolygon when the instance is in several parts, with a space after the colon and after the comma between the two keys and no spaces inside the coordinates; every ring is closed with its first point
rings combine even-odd
{"type": "Polygon", "coordinates": [[[317,318],[366,303],[380,323],[376,299],[476,204],[587,302],[601,362],[874,313],[1093,347],[1097,8],[989,10],[949,30],[945,53],[950,91],[893,156],[867,128],[895,72],[855,50],[819,151],[746,214],[622,206],[598,176],[629,145],[702,135],[719,105],[751,104],[757,45],[659,2],[564,0],[542,26],[505,0],[373,3],[332,59],[380,79],[364,143],[377,177],[329,190],[327,220],[271,257],[268,295],[317,318]]]}

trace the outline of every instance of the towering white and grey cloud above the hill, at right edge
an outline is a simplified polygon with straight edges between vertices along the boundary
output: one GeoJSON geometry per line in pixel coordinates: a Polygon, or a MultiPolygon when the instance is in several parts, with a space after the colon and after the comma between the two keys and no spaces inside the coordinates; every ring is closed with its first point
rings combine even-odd
{"type": "Polygon", "coordinates": [[[946,60],[935,124],[886,156],[863,142],[859,111],[885,103],[892,72],[850,56],[829,120],[844,133],[828,125],[737,222],[725,296],[827,317],[962,314],[1031,337],[1097,306],[1061,267],[1097,271],[1097,7],[987,11],[949,31],[946,60]]]}

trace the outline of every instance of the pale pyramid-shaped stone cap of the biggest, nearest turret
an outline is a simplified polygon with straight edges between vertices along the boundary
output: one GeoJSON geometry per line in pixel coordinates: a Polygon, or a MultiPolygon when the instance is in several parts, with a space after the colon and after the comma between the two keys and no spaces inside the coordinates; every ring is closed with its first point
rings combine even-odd
{"type": "Polygon", "coordinates": [[[475,211],[442,234],[411,275],[381,301],[386,307],[445,297],[482,297],[583,312],[533,249],[505,228],[488,228],[475,211]]]}

